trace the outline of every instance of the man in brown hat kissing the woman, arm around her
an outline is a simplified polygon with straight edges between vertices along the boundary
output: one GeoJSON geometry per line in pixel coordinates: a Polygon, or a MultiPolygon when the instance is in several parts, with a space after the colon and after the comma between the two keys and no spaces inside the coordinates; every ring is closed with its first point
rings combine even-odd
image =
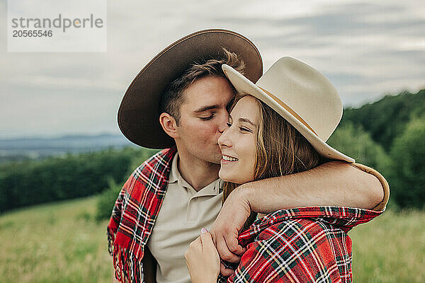
{"type": "MultiPolygon", "coordinates": [[[[234,96],[222,64],[254,82],[262,74],[252,42],[228,30],[203,30],[159,53],[125,93],[118,111],[125,137],[167,149],[136,169],[115,203],[108,236],[115,277],[121,281],[189,282],[184,252],[203,227],[212,227],[222,260],[237,262],[244,251],[237,236],[251,211],[385,207],[387,194],[379,175],[328,162],[305,173],[242,185],[220,212],[217,138],[225,130],[234,96]]],[[[229,272],[222,266],[222,275],[229,272]]]]}

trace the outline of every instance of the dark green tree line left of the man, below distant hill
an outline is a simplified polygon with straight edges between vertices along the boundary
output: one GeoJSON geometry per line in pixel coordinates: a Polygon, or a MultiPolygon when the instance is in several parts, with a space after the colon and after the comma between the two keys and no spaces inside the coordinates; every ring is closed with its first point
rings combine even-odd
{"type": "Polygon", "coordinates": [[[135,158],[152,152],[127,147],[1,164],[0,212],[103,192],[127,177],[135,158]]]}

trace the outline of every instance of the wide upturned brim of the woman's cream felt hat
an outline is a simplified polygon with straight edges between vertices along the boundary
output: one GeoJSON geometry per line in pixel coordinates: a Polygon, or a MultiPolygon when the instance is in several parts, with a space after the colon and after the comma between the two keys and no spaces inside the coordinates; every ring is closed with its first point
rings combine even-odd
{"type": "MultiPolygon", "coordinates": [[[[302,124],[300,120],[297,120],[297,118],[290,114],[288,110],[285,110],[285,108],[283,108],[283,106],[281,106],[274,98],[269,96],[266,92],[262,91],[261,88],[249,81],[249,79],[246,79],[238,71],[226,64],[222,65],[222,69],[225,72],[227,79],[229,79],[238,92],[247,93],[251,96],[254,96],[278,112],[279,115],[287,120],[290,125],[293,125],[293,127],[295,127],[295,129],[297,129],[298,132],[300,132],[300,134],[302,134],[302,136],[304,136],[305,139],[310,142],[319,155],[325,158],[346,161],[349,163],[355,162],[353,158],[342,154],[341,152],[329,146],[329,144],[326,142],[322,141],[322,139],[317,137],[314,132],[302,124]]],[[[285,103],[285,101],[283,101],[283,103],[285,103]]]]}

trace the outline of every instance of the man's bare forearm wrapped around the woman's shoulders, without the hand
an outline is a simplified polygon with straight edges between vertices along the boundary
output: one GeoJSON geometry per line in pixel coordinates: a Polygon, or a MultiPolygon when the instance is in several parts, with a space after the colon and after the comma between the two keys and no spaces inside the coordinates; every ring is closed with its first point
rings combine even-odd
{"type": "Polygon", "coordinates": [[[252,211],[264,214],[324,205],[373,209],[384,198],[382,184],[375,175],[339,161],[310,171],[246,183],[238,190],[252,211]]]}

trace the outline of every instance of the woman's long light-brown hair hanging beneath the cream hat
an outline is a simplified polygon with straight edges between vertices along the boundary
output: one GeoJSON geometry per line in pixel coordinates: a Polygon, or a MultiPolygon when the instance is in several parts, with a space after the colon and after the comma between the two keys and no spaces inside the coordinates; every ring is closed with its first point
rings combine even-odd
{"type": "MultiPolygon", "coordinates": [[[[238,93],[229,111],[246,93],[238,93]]],[[[321,162],[320,156],[312,145],[270,106],[256,99],[259,107],[259,127],[256,132],[256,161],[254,180],[279,177],[314,168],[321,162]]],[[[237,184],[225,182],[223,202],[237,184]]],[[[256,219],[253,212],[246,220],[242,231],[256,219]]]]}

